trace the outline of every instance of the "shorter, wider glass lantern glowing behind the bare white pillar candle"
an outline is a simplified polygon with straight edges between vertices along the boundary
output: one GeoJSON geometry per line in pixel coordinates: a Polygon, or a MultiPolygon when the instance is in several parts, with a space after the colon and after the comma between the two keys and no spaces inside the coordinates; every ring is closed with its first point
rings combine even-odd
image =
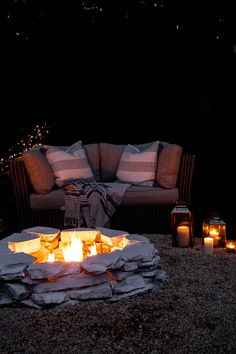
{"type": "Polygon", "coordinates": [[[203,241],[205,237],[213,238],[214,247],[225,247],[226,224],[218,215],[212,215],[203,221],[203,241]]]}

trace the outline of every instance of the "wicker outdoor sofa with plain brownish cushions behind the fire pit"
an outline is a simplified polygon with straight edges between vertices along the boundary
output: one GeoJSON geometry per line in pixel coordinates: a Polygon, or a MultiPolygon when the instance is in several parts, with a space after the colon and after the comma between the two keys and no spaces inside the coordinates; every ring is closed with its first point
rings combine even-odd
{"type": "MultiPolygon", "coordinates": [[[[110,143],[83,145],[93,176],[97,182],[114,182],[121,156],[127,145],[110,143]]],[[[140,151],[150,143],[137,145],[140,151]]],[[[66,147],[59,147],[65,150],[66,147]]],[[[176,201],[191,207],[195,155],[186,154],[177,144],[159,142],[155,181],[152,186],[132,185],[122,204],[113,214],[109,227],[129,233],[169,233],[171,210],[176,201]]],[[[32,149],[12,161],[17,227],[48,226],[63,229],[65,190],[50,182],[51,167],[45,149],[32,149]],[[45,172],[46,171],[46,172],[45,172]]]]}

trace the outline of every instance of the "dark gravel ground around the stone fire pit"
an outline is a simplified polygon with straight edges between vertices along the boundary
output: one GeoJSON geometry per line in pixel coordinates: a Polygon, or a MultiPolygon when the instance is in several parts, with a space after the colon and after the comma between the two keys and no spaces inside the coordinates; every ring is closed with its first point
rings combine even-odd
{"type": "Polygon", "coordinates": [[[167,279],[114,304],[0,309],[0,353],[236,353],[236,254],[204,255],[148,235],[167,279]]]}

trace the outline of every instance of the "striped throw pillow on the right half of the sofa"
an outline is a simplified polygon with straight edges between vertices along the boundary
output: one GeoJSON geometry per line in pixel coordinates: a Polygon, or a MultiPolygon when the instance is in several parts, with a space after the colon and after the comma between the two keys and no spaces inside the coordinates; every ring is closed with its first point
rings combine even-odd
{"type": "Polygon", "coordinates": [[[157,166],[159,141],[145,149],[127,145],[123,151],[116,173],[121,182],[153,186],[157,166]]]}

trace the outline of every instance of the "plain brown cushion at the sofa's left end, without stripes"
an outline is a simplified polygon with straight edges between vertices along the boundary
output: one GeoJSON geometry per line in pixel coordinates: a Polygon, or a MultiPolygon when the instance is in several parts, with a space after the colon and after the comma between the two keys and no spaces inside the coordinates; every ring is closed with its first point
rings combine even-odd
{"type": "Polygon", "coordinates": [[[54,174],[47,158],[38,150],[22,154],[26,171],[36,193],[49,193],[54,186],[54,174]]]}

